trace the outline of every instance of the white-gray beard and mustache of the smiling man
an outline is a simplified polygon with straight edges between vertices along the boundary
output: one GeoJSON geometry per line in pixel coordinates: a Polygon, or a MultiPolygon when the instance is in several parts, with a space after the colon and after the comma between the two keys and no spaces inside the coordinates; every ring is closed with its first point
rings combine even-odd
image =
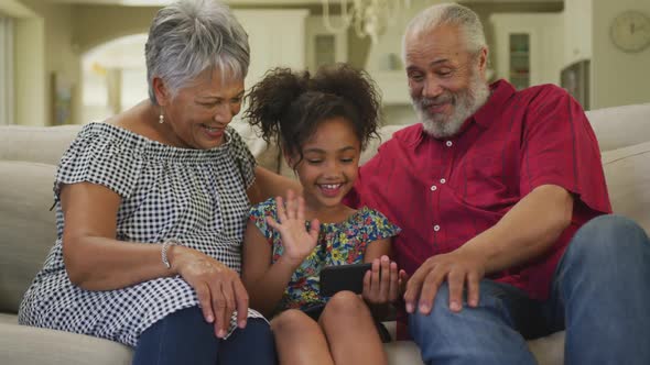
{"type": "Polygon", "coordinates": [[[478,77],[478,69],[472,75],[469,87],[465,90],[452,93],[445,91],[435,99],[411,98],[413,109],[422,122],[425,133],[435,139],[446,139],[456,135],[467,118],[472,117],[483,107],[490,96],[487,82],[478,77]],[[431,114],[426,108],[431,104],[452,102],[454,111],[449,117],[445,114],[431,114]]]}

